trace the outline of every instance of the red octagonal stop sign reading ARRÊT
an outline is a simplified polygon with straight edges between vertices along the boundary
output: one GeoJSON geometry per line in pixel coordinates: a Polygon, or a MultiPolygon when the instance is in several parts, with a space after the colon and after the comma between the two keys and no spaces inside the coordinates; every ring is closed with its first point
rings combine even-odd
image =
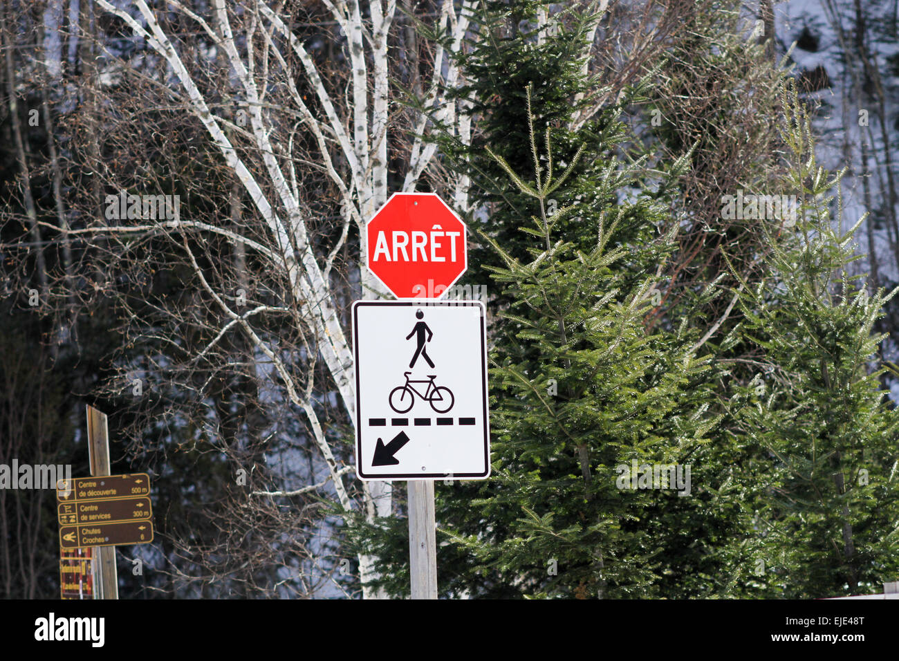
{"type": "Polygon", "coordinates": [[[397,299],[439,299],[467,269],[465,223],[436,193],[395,192],[366,227],[366,264],[397,299]]]}

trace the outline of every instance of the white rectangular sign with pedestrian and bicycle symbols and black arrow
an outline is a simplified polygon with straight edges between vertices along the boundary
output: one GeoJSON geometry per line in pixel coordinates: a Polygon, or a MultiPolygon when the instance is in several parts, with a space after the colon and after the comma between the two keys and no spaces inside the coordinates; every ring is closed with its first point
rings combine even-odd
{"type": "Polygon", "coordinates": [[[360,479],[490,475],[484,305],[357,300],[360,479]]]}

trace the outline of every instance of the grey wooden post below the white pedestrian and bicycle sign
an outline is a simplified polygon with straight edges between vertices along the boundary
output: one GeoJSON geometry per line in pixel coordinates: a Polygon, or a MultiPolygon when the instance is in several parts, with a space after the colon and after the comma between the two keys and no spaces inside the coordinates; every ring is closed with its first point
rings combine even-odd
{"type": "Polygon", "coordinates": [[[412,598],[437,598],[437,523],[432,479],[409,480],[409,564],[412,598]]]}

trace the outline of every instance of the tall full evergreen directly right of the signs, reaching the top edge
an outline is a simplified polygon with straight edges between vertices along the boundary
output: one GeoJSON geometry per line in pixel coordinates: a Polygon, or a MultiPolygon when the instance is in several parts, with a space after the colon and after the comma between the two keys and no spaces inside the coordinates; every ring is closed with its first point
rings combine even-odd
{"type": "MultiPolygon", "coordinates": [[[[622,163],[616,152],[627,133],[618,107],[571,129],[579,99],[600,89],[581,67],[596,17],[556,16],[565,28],[547,31],[542,44],[533,30],[506,29],[536,26],[540,5],[483,5],[477,21],[492,26],[493,38],[463,63],[471,81],[465,94],[479,113],[477,142],[471,150],[449,138],[443,145],[458,172],[472,177],[478,208],[489,210],[480,225],[485,249],[475,253],[482,270],[471,263],[475,278],[501,269],[494,282],[503,287],[491,286],[490,308],[502,320],[490,334],[503,367],[491,382],[495,477],[437,485],[439,540],[451,542],[438,549],[441,594],[729,594],[752,567],[745,548],[752,511],[743,505],[752,499],[734,479],[733,435],[700,442],[699,425],[712,416],[699,412],[721,376],[690,365],[696,328],[647,335],[641,327],[646,306],[658,305],[654,277],[673,248],[658,231],[670,181],[660,186],[644,162],[622,163]],[[564,173],[553,184],[546,183],[550,151],[564,173]],[[525,183],[536,178],[541,183],[525,183]],[[535,195],[541,188],[545,194],[535,195]],[[543,256],[532,264],[535,250],[543,256]],[[538,290],[558,308],[530,307],[538,290]],[[632,460],[689,462],[690,497],[619,490],[615,469],[632,460]]],[[[671,178],[689,158],[666,164],[671,178]]],[[[405,520],[353,529],[381,558],[381,585],[405,594],[405,520]]]]}

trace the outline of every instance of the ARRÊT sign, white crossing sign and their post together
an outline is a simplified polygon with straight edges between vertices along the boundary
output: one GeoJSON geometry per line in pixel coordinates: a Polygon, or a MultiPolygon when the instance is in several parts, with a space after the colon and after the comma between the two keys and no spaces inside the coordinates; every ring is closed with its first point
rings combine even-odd
{"type": "Polygon", "coordinates": [[[436,194],[394,193],[366,223],[366,266],[406,300],[352,308],[356,473],[408,480],[413,599],[437,598],[433,480],[490,474],[484,307],[437,300],[467,269],[466,238],[436,194]]]}

